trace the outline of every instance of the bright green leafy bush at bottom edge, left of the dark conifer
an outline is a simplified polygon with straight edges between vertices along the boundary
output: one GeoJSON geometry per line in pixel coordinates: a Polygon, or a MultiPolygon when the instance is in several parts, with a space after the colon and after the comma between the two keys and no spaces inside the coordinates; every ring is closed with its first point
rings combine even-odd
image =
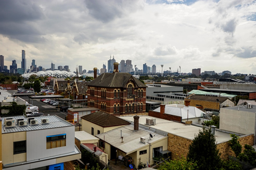
{"type": "Polygon", "coordinates": [[[168,160],[164,161],[163,163],[160,164],[158,169],[163,169],[163,170],[171,170],[171,169],[198,169],[197,163],[189,162],[187,161],[184,157],[182,157],[179,160],[168,160]]]}

